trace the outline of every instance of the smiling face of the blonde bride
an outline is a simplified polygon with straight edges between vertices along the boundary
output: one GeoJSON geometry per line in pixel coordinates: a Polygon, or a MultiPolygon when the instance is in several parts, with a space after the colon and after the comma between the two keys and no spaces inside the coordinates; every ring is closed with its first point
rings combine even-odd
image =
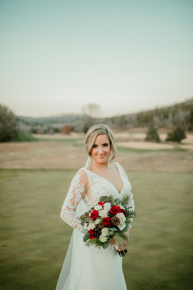
{"type": "Polygon", "coordinates": [[[91,149],[93,159],[98,163],[105,163],[109,161],[110,154],[111,145],[109,138],[104,134],[98,135],[91,149]]]}

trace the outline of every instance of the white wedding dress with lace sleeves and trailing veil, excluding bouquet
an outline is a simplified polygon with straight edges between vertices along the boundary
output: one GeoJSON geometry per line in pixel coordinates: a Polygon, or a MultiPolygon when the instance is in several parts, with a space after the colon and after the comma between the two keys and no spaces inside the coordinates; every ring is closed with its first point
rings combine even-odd
{"type": "Polygon", "coordinates": [[[117,255],[115,248],[111,245],[107,249],[86,247],[82,240],[84,234],[81,233],[83,227],[79,219],[79,216],[88,211],[103,195],[120,198],[129,194],[131,197],[129,205],[134,210],[131,184],[125,170],[119,163],[114,162],[114,164],[117,166],[123,183],[120,193],[106,178],[92,173],[85,167],[80,168],[72,179],[60,216],[74,230],[56,290],[127,289],[122,271],[122,257],[117,255]],[[85,185],[80,182],[81,174],[85,172],[90,184],[86,193],[85,185]]]}

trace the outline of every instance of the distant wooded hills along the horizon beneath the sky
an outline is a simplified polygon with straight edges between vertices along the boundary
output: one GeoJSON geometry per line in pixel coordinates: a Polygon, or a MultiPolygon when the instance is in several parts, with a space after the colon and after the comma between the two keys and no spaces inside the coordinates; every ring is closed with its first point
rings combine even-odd
{"type": "Polygon", "coordinates": [[[185,131],[193,131],[193,98],[172,106],[110,118],[91,118],[87,115],[76,114],[42,118],[17,117],[20,129],[30,133],[37,133],[39,129],[43,133],[61,132],[65,125],[68,125],[71,131],[86,132],[91,125],[100,123],[108,124],[113,130],[127,130],[147,127],[151,120],[157,128],[173,129],[179,125],[185,131]]]}

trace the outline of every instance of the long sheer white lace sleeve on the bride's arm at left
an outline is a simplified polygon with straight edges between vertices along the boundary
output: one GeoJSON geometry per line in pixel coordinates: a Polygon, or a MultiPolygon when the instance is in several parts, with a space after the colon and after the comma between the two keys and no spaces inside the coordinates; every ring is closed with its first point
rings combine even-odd
{"type": "Polygon", "coordinates": [[[78,215],[75,213],[75,209],[86,191],[86,184],[82,182],[84,181],[83,177],[82,173],[80,175],[80,171],[73,177],[60,214],[60,217],[69,224],[69,226],[72,226],[78,231],[84,229],[78,215]]]}

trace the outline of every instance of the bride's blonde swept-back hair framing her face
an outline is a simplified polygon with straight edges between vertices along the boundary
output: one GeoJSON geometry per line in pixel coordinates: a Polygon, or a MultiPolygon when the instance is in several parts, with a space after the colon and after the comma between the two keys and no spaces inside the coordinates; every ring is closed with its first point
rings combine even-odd
{"type": "Polygon", "coordinates": [[[91,155],[91,149],[93,147],[93,144],[95,142],[95,139],[98,135],[104,134],[109,138],[110,146],[111,146],[111,159],[110,164],[115,159],[116,153],[117,153],[117,147],[115,145],[113,132],[111,131],[111,128],[105,124],[100,125],[94,125],[89,128],[87,131],[86,137],[84,139],[84,143],[86,145],[87,153],[89,154],[89,163],[88,166],[91,167],[93,163],[93,157],[91,155]]]}

